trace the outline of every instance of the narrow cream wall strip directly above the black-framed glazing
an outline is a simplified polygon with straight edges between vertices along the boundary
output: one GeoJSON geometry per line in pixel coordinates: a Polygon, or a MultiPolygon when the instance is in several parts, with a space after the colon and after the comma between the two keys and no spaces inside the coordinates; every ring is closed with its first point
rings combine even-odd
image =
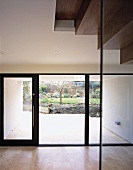
{"type": "Polygon", "coordinates": [[[2,65],[1,73],[100,73],[99,65],[2,65]]]}

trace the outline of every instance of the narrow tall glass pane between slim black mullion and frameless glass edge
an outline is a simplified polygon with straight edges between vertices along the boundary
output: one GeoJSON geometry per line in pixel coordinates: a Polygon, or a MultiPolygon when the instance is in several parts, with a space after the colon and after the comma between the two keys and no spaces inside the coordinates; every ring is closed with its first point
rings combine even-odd
{"type": "Polygon", "coordinates": [[[89,77],[89,144],[100,139],[100,76],[89,77]]]}

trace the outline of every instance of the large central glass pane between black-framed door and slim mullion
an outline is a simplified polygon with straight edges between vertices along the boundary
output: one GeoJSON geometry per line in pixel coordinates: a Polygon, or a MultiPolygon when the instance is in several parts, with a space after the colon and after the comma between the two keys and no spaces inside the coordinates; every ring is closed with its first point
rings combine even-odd
{"type": "Polygon", "coordinates": [[[85,77],[39,77],[39,143],[83,144],[85,77]]]}

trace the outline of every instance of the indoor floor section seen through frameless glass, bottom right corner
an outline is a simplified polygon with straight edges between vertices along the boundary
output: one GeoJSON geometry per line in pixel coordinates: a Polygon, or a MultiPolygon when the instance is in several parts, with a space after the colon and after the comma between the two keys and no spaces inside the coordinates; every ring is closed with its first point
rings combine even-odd
{"type": "Polygon", "coordinates": [[[133,170],[133,147],[103,147],[102,170],[133,170]]]}

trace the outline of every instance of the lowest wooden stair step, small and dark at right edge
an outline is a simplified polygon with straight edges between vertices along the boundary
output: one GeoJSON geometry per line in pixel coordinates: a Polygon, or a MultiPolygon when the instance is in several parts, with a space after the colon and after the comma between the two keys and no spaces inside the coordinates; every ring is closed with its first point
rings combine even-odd
{"type": "Polygon", "coordinates": [[[133,61],[133,43],[120,50],[120,64],[133,61]]]}

